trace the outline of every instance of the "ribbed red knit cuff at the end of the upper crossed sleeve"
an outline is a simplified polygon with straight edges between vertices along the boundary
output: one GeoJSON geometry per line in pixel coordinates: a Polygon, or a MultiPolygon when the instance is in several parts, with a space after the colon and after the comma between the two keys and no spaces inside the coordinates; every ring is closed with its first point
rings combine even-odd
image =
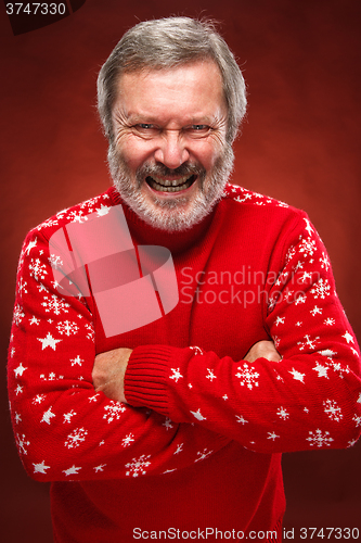
{"type": "Polygon", "coordinates": [[[132,351],[125,375],[125,396],[130,405],[169,416],[166,379],[173,349],[142,345],[132,351]]]}

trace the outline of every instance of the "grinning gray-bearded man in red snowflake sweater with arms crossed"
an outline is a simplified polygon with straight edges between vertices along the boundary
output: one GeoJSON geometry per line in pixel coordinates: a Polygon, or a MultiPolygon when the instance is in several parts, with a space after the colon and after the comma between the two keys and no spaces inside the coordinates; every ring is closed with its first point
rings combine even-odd
{"type": "Polygon", "coordinates": [[[9,390],[56,542],[280,541],[281,453],[359,437],[319,236],[227,182],[245,103],[211,25],[137,25],[99,76],[114,187],[25,241],[9,390]]]}

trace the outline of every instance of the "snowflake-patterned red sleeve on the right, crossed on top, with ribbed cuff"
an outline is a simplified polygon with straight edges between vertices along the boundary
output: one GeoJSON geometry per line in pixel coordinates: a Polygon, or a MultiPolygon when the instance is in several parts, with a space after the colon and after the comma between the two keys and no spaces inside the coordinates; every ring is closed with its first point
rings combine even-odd
{"type": "MultiPolygon", "coordinates": [[[[360,353],[325,248],[306,215],[283,237],[265,285],[263,326],[281,362],[218,357],[197,348],[137,348],[125,394],[259,453],[341,449],[361,431],[360,353]]],[[[276,252],[276,251],[275,251],[276,252]]]]}

